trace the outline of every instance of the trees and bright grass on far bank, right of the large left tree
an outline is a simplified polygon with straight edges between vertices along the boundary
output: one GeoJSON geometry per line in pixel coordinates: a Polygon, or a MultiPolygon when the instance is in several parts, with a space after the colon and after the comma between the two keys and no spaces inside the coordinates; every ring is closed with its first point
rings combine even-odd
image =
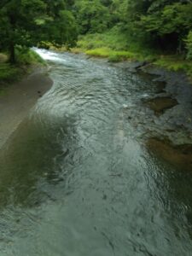
{"type": "Polygon", "coordinates": [[[185,0],[80,0],[78,48],[109,61],[150,61],[192,74],[192,3],[185,0]],[[91,2],[91,4],[90,4],[91,2]]]}

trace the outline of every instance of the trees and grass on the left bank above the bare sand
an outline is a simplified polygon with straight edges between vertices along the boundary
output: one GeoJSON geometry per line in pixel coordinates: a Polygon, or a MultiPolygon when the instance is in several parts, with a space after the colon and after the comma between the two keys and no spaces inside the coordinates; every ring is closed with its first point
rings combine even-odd
{"type": "MultiPolygon", "coordinates": [[[[70,1],[68,1],[70,2],[70,1]]],[[[20,78],[33,64],[44,61],[32,46],[73,46],[77,38],[75,22],[64,0],[3,0],[0,3],[0,80],[20,78]]]]}

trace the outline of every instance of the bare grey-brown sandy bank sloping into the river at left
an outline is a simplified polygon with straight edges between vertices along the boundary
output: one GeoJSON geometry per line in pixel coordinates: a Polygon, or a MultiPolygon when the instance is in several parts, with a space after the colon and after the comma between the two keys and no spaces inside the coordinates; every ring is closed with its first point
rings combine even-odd
{"type": "Polygon", "coordinates": [[[36,68],[0,95],[0,148],[51,85],[52,80],[46,74],[46,68],[36,68]]]}

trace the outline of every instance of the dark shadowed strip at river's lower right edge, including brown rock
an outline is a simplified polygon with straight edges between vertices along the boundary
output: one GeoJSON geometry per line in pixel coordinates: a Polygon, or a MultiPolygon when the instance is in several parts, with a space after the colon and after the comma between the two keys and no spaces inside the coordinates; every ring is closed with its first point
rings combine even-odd
{"type": "MultiPolygon", "coordinates": [[[[146,148],[156,166],[159,166],[155,183],[164,201],[169,218],[174,220],[173,230],[182,240],[183,230],[192,239],[192,147],[172,145],[169,140],[149,138],[146,148]],[[182,230],[179,225],[182,225],[182,230]]],[[[183,243],[184,247],[184,243],[183,243]]]]}

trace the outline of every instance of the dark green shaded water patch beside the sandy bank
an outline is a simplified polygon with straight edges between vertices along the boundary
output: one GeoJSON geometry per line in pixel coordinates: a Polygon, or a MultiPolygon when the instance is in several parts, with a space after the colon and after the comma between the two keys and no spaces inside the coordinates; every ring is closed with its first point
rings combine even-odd
{"type": "Polygon", "coordinates": [[[53,181],[56,176],[55,155],[64,154],[58,143],[60,136],[61,131],[34,124],[32,120],[20,125],[9,148],[1,155],[0,207],[10,203],[28,207],[42,200],[42,196],[36,195],[36,184],[39,178],[53,181]]]}

